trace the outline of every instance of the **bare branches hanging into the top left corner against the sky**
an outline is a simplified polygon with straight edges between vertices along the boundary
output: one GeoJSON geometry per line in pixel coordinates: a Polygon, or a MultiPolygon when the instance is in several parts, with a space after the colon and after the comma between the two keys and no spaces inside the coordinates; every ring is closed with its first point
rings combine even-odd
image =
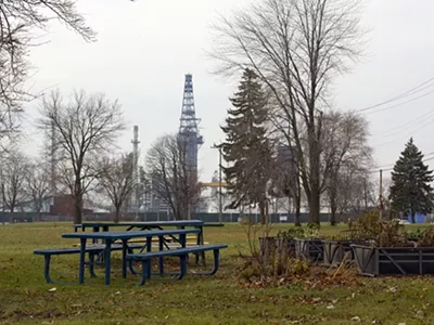
{"type": "Polygon", "coordinates": [[[36,96],[25,86],[30,69],[28,49],[38,46],[35,29],[47,29],[53,18],[78,32],[86,41],[94,40],[95,34],[86,26],[74,0],[0,3],[0,139],[17,130],[23,104],[36,96]]]}

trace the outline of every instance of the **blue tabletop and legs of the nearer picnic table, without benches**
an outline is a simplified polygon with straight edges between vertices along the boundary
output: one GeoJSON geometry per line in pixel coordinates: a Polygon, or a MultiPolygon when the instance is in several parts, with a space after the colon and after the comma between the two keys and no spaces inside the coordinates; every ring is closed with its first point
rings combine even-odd
{"type": "MultiPolygon", "coordinates": [[[[127,250],[128,240],[132,238],[145,238],[146,239],[146,250],[152,249],[152,238],[158,237],[159,250],[163,250],[164,236],[179,236],[179,243],[182,248],[186,248],[187,234],[199,234],[201,231],[199,229],[177,229],[177,230],[143,230],[143,231],[123,231],[123,232],[75,232],[71,234],[63,234],[63,238],[77,238],[80,239],[80,258],[79,258],[79,272],[78,272],[78,283],[85,283],[85,257],[86,257],[86,243],[88,239],[102,239],[105,243],[104,248],[104,265],[105,265],[105,285],[110,285],[111,278],[111,253],[112,244],[115,240],[122,240],[123,245],[123,257],[122,257],[122,273],[123,277],[127,276],[127,250]]],[[[163,260],[161,259],[161,268],[163,260]]],[[[161,269],[162,270],[162,269],[161,269]]]]}

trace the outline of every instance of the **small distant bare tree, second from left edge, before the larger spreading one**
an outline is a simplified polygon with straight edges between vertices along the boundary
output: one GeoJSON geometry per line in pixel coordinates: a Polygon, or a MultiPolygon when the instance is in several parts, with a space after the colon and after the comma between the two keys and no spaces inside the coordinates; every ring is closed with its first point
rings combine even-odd
{"type": "Polygon", "coordinates": [[[40,212],[43,202],[51,194],[50,173],[41,164],[29,165],[25,174],[26,194],[33,200],[34,210],[40,212]]]}

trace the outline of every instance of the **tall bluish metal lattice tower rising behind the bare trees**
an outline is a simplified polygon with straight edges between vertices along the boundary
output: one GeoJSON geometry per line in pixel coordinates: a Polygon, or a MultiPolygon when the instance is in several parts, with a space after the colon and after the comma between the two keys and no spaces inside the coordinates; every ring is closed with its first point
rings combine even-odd
{"type": "Polygon", "coordinates": [[[186,162],[188,170],[192,172],[195,179],[197,178],[197,151],[204,143],[203,138],[199,134],[199,122],[200,119],[196,118],[194,108],[193,76],[188,74],[186,75],[183,86],[179,139],[186,145],[186,162]]]}

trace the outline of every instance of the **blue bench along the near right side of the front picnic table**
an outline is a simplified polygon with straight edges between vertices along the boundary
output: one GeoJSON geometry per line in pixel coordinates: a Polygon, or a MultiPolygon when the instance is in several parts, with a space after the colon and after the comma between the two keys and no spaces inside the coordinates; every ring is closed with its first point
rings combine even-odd
{"type": "Polygon", "coordinates": [[[139,283],[139,286],[144,285],[148,278],[151,277],[151,260],[154,258],[163,258],[163,257],[179,257],[180,258],[180,273],[176,276],[177,280],[181,280],[187,273],[187,259],[189,253],[199,253],[207,250],[214,251],[214,268],[210,272],[207,273],[193,273],[194,275],[214,275],[219,266],[219,252],[220,249],[228,248],[226,244],[218,245],[197,245],[197,246],[189,246],[186,248],[177,248],[170,250],[157,250],[157,251],[148,251],[140,253],[129,253],[127,255],[127,261],[140,261],[142,263],[142,278],[139,283]]]}

